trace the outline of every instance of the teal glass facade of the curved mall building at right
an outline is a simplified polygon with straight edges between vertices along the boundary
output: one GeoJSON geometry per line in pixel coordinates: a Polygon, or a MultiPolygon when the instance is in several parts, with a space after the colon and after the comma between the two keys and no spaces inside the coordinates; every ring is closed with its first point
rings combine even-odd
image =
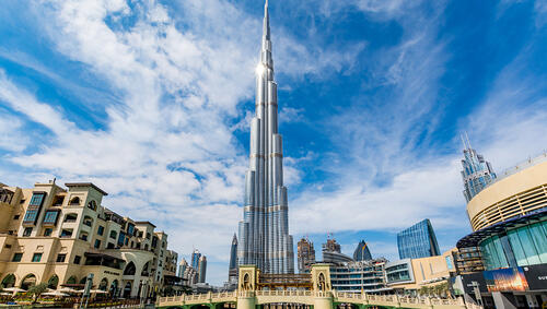
{"type": "Polygon", "coordinates": [[[480,242],[487,270],[547,263],[547,218],[505,228],[480,242]]]}

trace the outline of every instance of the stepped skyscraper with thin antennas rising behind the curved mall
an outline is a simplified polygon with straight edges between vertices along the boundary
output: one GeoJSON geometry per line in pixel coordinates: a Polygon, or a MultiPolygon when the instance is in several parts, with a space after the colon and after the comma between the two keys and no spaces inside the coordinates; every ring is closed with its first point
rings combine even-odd
{"type": "Polygon", "coordinates": [[[464,159],[462,159],[462,179],[464,180],[464,197],[469,202],[473,197],[492,183],[496,179],[489,162],[472,148],[467,134],[462,136],[464,143],[464,159]]]}

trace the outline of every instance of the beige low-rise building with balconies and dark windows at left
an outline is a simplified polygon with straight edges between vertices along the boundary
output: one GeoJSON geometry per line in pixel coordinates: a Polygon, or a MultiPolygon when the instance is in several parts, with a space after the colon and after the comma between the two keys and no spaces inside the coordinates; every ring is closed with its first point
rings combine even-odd
{"type": "Polygon", "coordinates": [[[94,288],[113,296],[161,294],[176,257],[167,235],[102,206],[107,193],[93,183],[66,187],[0,183],[0,285],[82,288],[93,273],[94,288]]]}

